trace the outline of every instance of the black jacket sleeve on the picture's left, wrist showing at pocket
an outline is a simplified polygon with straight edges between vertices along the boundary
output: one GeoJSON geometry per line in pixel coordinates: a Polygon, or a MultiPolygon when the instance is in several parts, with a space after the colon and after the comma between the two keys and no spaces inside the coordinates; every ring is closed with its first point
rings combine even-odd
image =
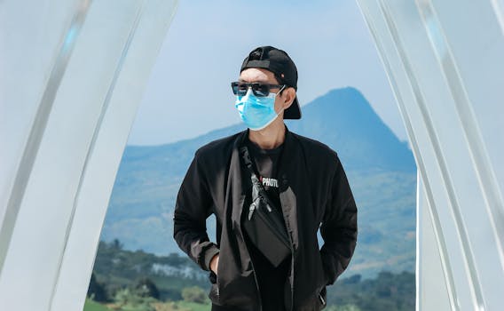
{"type": "Polygon", "coordinates": [[[210,269],[210,260],[219,252],[207,234],[206,220],[211,214],[211,206],[204,165],[196,152],[178,190],[173,237],[178,247],[204,270],[210,269]]]}

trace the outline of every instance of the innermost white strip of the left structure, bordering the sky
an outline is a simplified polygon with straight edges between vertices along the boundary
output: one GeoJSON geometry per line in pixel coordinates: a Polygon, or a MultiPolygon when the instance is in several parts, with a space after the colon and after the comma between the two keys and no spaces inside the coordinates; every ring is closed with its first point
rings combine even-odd
{"type": "MultiPolygon", "coordinates": [[[[117,73],[113,93],[106,100],[102,123],[91,146],[84,177],[75,201],[71,231],[67,233],[67,249],[60,268],[57,291],[51,310],[82,309],[78,299],[85,297],[96,256],[101,227],[106,216],[108,199],[119,167],[127,133],[137,112],[150,68],[154,65],[161,38],[175,12],[174,1],[150,1],[141,8],[138,27],[130,32],[129,46],[117,73]],[[155,49],[154,49],[155,47],[155,49]],[[99,221],[98,221],[99,220],[99,221]],[[75,271],[86,269],[78,274],[75,271]]],[[[106,2],[100,6],[106,6],[106,2]]],[[[100,8],[106,12],[106,8],[100,8]]]]}

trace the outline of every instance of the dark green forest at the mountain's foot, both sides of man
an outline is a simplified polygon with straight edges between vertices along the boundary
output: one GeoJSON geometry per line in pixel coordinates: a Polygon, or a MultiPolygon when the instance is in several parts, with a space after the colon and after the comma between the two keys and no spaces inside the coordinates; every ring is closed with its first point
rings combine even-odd
{"type": "MultiPolygon", "coordinates": [[[[117,239],[102,241],[84,311],[209,310],[208,290],[208,273],[186,257],[128,251],[117,239]]],[[[412,272],[343,275],[327,287],[328,311],[406,311],[414,305],[412,272]]]]}

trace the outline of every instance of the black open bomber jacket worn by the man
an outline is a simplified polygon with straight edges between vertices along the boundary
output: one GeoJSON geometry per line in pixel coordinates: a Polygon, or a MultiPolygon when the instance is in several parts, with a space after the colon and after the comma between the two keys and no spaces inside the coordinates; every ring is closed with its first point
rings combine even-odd
{"type": "MultiPolygon", "coordinates": [[[[249,173],[240,158],[248,131],[201,147],[177,195],[174,237],[201,268],[219,253],[217,277],[210,273],[213,309],[261,310],[253,262],[240,225],[249,173]],[[215,214],[217,243],[209,241],[206,219],[215,214]],[[212,277],[213,275],[213,277],[212,277]]],[[[349,265],[357,241],[357,207],[335,151],[286,131],[278,168],[281,209],[294,250],[287,309],[320,310],[326,286],[349,265]],[[317,232],[324,240],[319,249],[317,232]]],[[[287,295],[288,296],[288,295],[287,295]]]]}

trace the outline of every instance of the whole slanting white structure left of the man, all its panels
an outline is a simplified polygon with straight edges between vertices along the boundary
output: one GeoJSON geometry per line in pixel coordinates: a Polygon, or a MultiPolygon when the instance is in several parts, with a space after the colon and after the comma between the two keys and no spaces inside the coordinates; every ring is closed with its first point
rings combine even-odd
{"type": "Polygon", "coordinates": [[[1,74],[1,116],[19,118],[0,125],[14,133],[0,140],[10,150],[0,175],[2,309],[83,308],[122,150],[176,9],[161,0],[65,3],[0,3],[0,16],[13,16],[2,20],[5,64],[30,76],[23,61],[44,57],[29,79],[1,74]],[[35,13],[42,18],[30,22],[35,13]],[[18,28],[34,37],[13,40],[18,28]],[[59,36],[46,46],[39,28],[42,39],[59,36]]]}

